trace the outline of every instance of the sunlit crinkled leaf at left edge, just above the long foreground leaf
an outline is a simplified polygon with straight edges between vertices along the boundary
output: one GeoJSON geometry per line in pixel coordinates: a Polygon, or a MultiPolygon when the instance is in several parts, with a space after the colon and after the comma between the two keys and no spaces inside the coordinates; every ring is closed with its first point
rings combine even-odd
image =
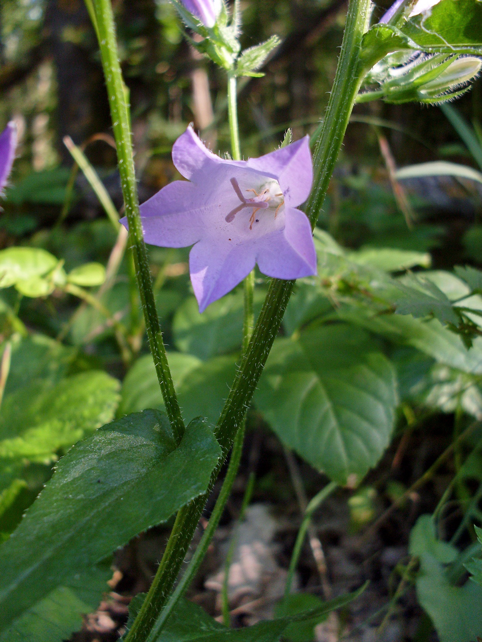
{"type": "Polygon", "coordinates": [[[119,387],[106,372],[89,370],[55,386],[37,379],[6,395],[0,413],[0,462],[53,460],[58,449],[111,421],[119,387]]]}

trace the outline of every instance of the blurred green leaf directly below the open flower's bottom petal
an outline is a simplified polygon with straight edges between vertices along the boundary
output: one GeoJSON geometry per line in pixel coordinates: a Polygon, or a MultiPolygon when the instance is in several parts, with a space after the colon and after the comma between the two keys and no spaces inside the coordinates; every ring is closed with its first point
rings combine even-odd
{"type": "MultiPolygon", "coordinates": [[[[264,293],[256,291],[255,315],[260,311],[263,299],[264,293]]],[[[243,305],[243,293],[238,291],[215,301],[201,315],[195,298],[186,299],[174,316],[175,346],[200,359],[233,352],[241,345],[243,305]]]]}

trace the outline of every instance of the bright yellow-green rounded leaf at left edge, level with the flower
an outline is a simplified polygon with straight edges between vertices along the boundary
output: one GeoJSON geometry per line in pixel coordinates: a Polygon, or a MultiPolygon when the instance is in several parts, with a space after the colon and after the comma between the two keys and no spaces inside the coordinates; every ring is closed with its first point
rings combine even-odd
{"type": "Polygon", "coordinates": [[[58,261],[46,250],[34,247],[8,247],[0,251],[0,288],[19,281],[41,277],[55,268],[58,261]]]}

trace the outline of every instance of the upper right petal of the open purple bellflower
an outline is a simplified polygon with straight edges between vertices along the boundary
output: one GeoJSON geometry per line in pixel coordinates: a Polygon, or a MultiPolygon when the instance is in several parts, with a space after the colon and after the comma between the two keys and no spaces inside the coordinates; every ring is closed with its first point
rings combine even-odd
{"type": "Polygon", "coordinates": [[[313,163],[308,136],[275,152],[257,159],[249,159],[247,166],[276,178],[285,196],[285,202],[292,207],[301,205],[310,195],[313,163]]]}

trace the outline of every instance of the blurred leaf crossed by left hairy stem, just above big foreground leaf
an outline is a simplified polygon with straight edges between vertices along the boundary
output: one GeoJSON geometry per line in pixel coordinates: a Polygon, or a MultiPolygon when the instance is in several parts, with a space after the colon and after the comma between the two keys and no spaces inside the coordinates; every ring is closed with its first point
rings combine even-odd
{"type": "MultiPolygon", "coordinates": [[[[236,356],[201,361],[192,354],[168,352],[168,361],[184,419],[190,421],[201,416],[215,424],[235,376],[236,356]]],[[[127,373],[120,412],[145,408],[164,408],[150,355],[141,357],[127,373]]]]}

